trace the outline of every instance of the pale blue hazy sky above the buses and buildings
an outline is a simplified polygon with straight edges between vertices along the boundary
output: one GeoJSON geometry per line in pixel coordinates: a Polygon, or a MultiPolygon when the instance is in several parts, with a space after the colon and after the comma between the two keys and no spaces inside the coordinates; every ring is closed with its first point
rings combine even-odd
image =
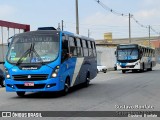
{"type": "MultiPolygon", "coordinates": [[[[139,23],[160,32],[160,0],[100,0],[109,8],[132,14],[139,23]]],[[[103,39],[111,32],[113,38],[129,37],[129,17],[113,14],[96,0],[78,0],[80,34],[103,39]]],[[[64,30],[76,33],[75,0],[0,0],[0,20],[29,24],[31,30],[53,26],[64,21],[64,30]]],[[[159,34],[151,30],[151,36],[159,34]]],[[[148,37],[149,29],[131,19],[131,37],[148,37]]]]}

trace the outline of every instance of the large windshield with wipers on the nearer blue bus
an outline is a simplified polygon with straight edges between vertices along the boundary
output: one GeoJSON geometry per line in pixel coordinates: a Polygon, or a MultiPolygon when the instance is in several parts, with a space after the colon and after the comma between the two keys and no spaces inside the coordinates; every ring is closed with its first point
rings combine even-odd
{"type": "Polygon", "coordinates": [[[25,34],[13,37],[7,54],[10,63],[51,62],[58,57],[58,34],[25,34]]]}

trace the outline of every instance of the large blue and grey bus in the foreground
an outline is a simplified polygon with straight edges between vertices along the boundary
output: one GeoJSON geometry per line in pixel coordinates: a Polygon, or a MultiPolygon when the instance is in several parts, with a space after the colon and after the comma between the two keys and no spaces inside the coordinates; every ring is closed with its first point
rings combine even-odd
{"type": "Polygon", "coordinates": [[[13,36],[5,61],[6,91],[62,91],[97,75],[96,46],[91,38],[40,28],[13,36]]]}

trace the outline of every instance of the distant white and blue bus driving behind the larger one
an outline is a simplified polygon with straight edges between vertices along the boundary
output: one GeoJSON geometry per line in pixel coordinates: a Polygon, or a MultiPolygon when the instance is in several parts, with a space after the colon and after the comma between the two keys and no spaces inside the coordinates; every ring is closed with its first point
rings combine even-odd
{"type": "Polygon", "coordinates": [[[116,50],[117,70],[151,71],[156,65],[155,49],[138,44],[120,44],[116,50]]]}

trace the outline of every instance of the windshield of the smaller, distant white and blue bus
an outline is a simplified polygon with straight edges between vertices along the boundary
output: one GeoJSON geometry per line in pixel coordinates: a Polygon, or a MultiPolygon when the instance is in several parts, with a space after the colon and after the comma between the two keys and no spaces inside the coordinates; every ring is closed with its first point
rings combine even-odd
{"type": "Polygon", "coordinates": [[[138,59],[137,49],[120,49],[118,50],[118,60],[136,60],[138,59]]]}

